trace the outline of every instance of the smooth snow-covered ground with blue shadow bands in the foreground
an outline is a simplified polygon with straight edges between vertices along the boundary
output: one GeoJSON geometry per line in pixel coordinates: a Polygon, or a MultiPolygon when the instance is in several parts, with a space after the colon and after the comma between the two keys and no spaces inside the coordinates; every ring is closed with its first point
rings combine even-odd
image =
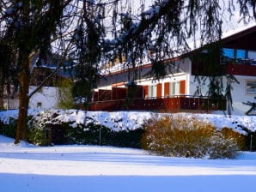
{"type": "Polygon", "coordinates": [[[0,190],[19,192],[255,191],[256,153],[182,159],[116,147],[36,147],[0,135],[0,190]]]}

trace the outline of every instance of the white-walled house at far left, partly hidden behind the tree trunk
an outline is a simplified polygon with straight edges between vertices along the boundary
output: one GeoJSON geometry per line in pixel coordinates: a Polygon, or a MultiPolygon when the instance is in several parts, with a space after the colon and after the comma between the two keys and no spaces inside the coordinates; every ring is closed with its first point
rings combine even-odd
{"type": "MultiPolygon", "coordinates": [[[[36,66],[36,58],[34,58],[34,66],[36,66]]],[[[31,75],[31,81],[29,85],[29,94],[40,86],[41,82],[46,79],[47,76],[52,74],[52,71],[56,69],[56,64],[45,64],[34,67],[31,75]]],[[[44,86],[29,99],[28,108],[30,109],[52,109],[58,108],[58,85],[59,81],[70,78],[70,71],[59,69],[55,75],[44,83],[44,86]]],[[[18,87],[9,85],[3,87],[3,97],[1,98],[3,109],[13,110],[19,108],[19,94],[18,87]],[[9,90],[9,91],[8,91],[9,90]]]]}

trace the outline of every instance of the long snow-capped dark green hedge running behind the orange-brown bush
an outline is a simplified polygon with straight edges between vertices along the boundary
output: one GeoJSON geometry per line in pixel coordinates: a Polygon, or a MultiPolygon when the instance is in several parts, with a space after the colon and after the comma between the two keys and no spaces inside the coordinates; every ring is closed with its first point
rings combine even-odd
{"type": "MultiPolygon", "coordinates": [[[[51,144],[51,140],[48,138],[52,137],[54,139],[52,142],[55,144],[99,144],[99,130],[101,128],[101,131],[103,130],[101,132],[103,145],[140,147],[139,141],[143,134],[143,124],[149,122],[154,114],[159,117],[168,115],[166,113],[137,111],[29,110],[30,121],[28,122],[27,141],[47,145],[51,144]]],[[[17,117],[17,110],[0,111],[0,134],[15,137],[17,117]]],[[[210,123],[211,127],[221,130],[226,139],[235,138],[239,149],[256,150],[255,117],[234,116],[229,118],[212,114],[181,113],[173,114],[172,118],[189,118],[189,122],[192,119],[198,119],[197,121],[200,120],[201,124],[204,124],[201,127],[210,123]],[[246,135],[246,147],[244,147],[244,135],[246,135]]],[[[160,125],[159,127],[164,126],[160,125]]],[[[196,135],[196,133],[193,134],[196,135]]],[[[196,135],[194,138],[197,138],[198,141],[201,138],[200,140],[204,141],[201,135],[196,135]]],[[[152,146],[154,145],[152,144],[152,146]]],[[[197,146],[191,147],[197,148],[197,146]]],[[[160,145],[159,150],[161,148],[163,147],[160,145]]],[[[188,153],[186,155],[189,156],[191,150],[186,150],[185,153],[188,153]]],[[[208,155],[210,156],[210,153],[208,155]]]]}

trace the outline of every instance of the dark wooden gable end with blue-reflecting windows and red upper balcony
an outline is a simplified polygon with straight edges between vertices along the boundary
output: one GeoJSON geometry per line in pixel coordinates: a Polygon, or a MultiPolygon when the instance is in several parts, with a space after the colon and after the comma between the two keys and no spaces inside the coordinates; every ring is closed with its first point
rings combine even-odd
{"type": "Polygon", "coordinates": [[[189,54],[192,59],[192,75],[255,75],[256,27],[204,45],[189,54]]]}

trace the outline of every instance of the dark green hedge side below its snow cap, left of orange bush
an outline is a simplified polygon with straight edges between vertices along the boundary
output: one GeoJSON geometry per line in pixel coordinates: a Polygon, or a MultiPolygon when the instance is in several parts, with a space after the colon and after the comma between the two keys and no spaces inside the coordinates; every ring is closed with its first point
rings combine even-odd
{"type": "Polygon", "coordinates": [[[101,124],[74,124],[76,123],[44,123],[42,126],[30,122],[27,141],[42,146],[84,144],[140,147],[143,129],[113,131],[101,124]]]}

